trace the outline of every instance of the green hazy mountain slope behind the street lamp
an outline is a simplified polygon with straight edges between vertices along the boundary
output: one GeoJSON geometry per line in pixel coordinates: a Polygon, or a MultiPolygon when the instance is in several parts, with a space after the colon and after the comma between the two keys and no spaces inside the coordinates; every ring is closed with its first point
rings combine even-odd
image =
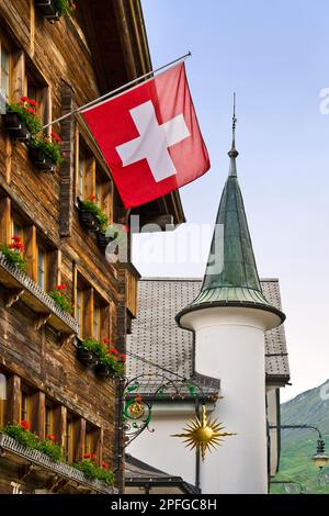
{"type": "MultiPolygon", "coordinates": [[[[329,456],[329,380],[281,405],[282,425],[309,424],[319,428],[329,456]]],[[[311,461],[318,434],[311,429],[282,430],[280,471],[273,480],[300,482],[306,493],[329,494],[329,467],[320,471],[311,461]]],[[[272,484],[271,492],[292,492],[297,486],[272,484]]],[[[296,491],[295,491],[296,492],[296,491]]]]}

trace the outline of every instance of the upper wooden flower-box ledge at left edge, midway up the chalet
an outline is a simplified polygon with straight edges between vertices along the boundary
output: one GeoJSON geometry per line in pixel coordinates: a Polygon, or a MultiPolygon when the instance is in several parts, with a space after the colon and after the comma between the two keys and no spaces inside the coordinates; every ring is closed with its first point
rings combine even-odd
{"type": "Polygon", "coordinates": [[[60,310],[55,301],[29,276],[21,272],[0,253],[0,282],[7,288],[5,306],[21,299],[36,313],[36,328],[47,323],[64,336],[78,333],[78,322],[60,310]]]}

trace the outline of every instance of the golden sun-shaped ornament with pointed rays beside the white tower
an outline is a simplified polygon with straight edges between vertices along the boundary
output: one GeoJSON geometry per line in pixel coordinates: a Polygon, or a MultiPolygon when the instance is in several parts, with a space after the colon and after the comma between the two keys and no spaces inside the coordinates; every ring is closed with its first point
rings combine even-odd
{"type": "Polygon", "coordinates": [[[201,450],[202,460],[205,458],[206,450],[212,451],[212,447],[220,446],[222,437],[236,436],[237,434],[220,431],[224,429],[222,423],[207,419],[205,405],[202,405],[201,419],[195,417],[194,420],[188,423],[188,428],[183,428],[185,434],[174,434],[171,437],[185,437],[184,442],[191,450],[196,448],[201,450]]]}

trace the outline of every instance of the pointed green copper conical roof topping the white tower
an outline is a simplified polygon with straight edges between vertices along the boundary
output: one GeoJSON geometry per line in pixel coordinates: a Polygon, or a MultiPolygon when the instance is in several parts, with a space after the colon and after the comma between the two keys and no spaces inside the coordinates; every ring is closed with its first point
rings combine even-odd
{"type": "Polygon", "coordinates": [[[237,179],[238,155],[234,137],[228,153],[229,175],[219,203],[203,284],[195,300],[178,314],[178,322],[184,313],[208,305],[253,306],[274,312],[282,321],[285,318],[284,314],[265,300],[261,290],[237,179]]]}

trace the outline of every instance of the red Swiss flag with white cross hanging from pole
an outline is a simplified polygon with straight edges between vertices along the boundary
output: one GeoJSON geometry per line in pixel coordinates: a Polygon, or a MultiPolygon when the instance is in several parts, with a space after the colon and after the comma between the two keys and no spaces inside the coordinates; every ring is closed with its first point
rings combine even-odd
{"type": "Polygon", "coordinates": [[[83,116],[127,209],[209,169],[184,64],[87,109],[83,116]]]}

